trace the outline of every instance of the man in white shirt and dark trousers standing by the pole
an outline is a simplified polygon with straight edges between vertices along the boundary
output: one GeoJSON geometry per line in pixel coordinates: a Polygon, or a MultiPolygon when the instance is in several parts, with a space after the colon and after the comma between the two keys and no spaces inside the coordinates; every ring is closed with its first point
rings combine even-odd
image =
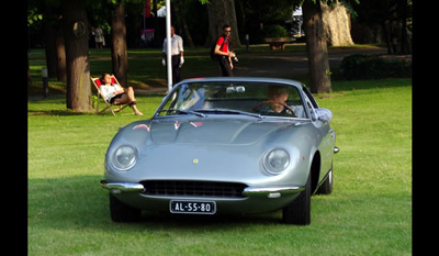
{"type": "MultiPolygon", "coordinates": [[[[167,38],[164,41],[164,57],[161,58],[161,64],[166,67],[166,48],[167,48],[167,38]]],[[[180,70],[181,66],[183,66],[184,57],[183,57],[183,38],[180,35],[176,35],[176,30],[173,25],[171,25],[171,67],[172,67],[172,85],[176,85],[181,80],[180,70]]]]}

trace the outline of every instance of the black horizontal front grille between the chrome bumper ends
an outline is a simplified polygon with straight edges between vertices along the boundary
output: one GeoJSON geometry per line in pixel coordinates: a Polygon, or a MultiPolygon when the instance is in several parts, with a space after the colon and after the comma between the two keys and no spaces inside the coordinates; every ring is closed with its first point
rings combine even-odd
{"type": "Polygon", "coordinates": [[[244,183],[188,180],[145,180],[144,194],[178,197],[245,198],[244,183]]]}

